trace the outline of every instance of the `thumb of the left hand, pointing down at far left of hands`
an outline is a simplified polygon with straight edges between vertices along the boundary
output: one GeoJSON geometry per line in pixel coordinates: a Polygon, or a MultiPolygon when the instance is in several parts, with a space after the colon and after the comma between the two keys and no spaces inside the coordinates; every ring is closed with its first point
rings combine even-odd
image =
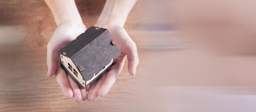
{"type": "Polygon", "coordinates": [[[56,46],[56,44],[53,44],[52,42],[49,42],[47,44],[47,76],[52,77],[54,73],[56,72],[57,69],[57,64],[58,64],[58,50],[59,47],[56,46]]]}

